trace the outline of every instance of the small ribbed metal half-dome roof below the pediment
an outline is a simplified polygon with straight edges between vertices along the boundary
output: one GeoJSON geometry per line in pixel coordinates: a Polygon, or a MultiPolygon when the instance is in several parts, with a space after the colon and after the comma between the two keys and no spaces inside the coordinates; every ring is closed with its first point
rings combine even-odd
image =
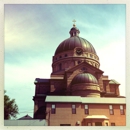
{"type": "Polygon", "coordinates": [[[90,73],[81,73],[74,77],[72,80],[72,85],[80,83],[94,83],[98,84],[97,79],[90,73]]]}

